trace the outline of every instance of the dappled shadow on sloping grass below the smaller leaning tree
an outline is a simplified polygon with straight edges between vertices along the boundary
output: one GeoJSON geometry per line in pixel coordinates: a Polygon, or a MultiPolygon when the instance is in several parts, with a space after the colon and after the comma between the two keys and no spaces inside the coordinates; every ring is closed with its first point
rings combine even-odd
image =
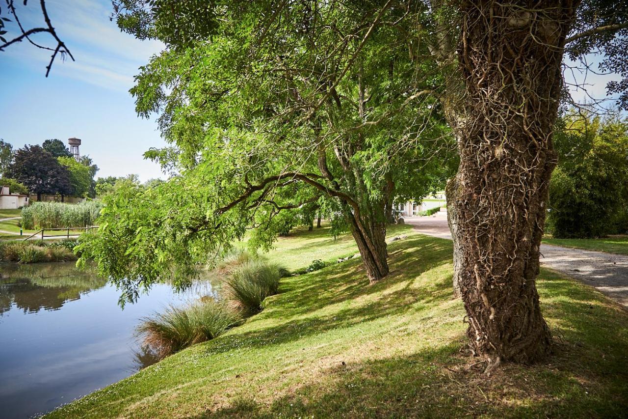
{"type": "Polygon", "coordinates": [[[355,274],[357,261],[337,265],[333,271],[325,269],[291,278],[287,289],[271,298],[264,311],[248,321],[250,327],[255,327],[258,322],[272,320],[272,327],[260,325],[251,332],[241,330],[233,335],[218,337],[208,345],[207,354],[285,344],[328,330],[401,315],[410,310],[430,310],[452,298],[452,274],[434,274],[429,286],[416,286],[414,282],[421,274],[447,265],[448,259],[450,253],[446,247],[416,238],[396,250],[391,258],[393,272],[372,286],[355,274]],[[430,255],[421,264],[413,258],[415,248],[430,255]],[[340,274],[331,274],[340,271],[340,267],[340,274]],[[342,306],[330,308],[333,304],[342,306]],[[323,309],[324,313],[317,313],[323,309]]]}

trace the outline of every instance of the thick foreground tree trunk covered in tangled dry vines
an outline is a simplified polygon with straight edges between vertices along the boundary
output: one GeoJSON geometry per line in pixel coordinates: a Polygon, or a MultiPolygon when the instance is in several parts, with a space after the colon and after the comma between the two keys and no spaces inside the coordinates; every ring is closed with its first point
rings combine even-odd
{"type": "Polygon", "coordinates": [[[461,6],[463,92],[448,112],[460,168],[448,216],[470,346],[489,365],[533,362],[551,345],[535,282],[574,9],[565,0],[461,6]]]}

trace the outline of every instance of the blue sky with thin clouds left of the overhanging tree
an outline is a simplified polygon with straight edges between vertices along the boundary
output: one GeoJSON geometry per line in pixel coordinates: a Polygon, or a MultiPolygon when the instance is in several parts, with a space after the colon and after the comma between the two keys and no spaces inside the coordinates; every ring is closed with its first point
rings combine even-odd
{"type": "MultiPolygon", "coordinates": [[[[164,145],[156,123],[136,116],[128,92],[139,66],[163,45],[121,33],[109,21],[109,0],[47,0],[46,5],[76,62],[55,60],[46,79],[47,51],[22,42],[0,52],[0,138],[19,148],[46,138],[67,143],[78,137],[81,154],[100,167],[97,176],[164,177],[158,165],[143,159],[148,148],[164,145]]],[[[42,25],[39,2],[18,11],[25,26],[42,25]]],[[[49,37],[37,39],[54,46],[49,37]]]]}

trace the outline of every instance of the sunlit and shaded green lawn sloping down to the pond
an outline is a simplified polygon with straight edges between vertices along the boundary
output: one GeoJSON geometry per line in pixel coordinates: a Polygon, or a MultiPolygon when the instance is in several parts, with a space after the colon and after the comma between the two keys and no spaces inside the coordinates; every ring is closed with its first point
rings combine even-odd
{"type": "MultiPolygon", "coordinates": [[[[628,411],[628,312],[541,270],[555,355],[491,377],[464,354],[452,242],[414,233],[389,245],[369,286],[359,259],[283,280],[241,327],[172,355],[51,417],[602,417],[628,411]]],[[[297,269],[356,252],[301,232],[270,256],[297,269]]]]}

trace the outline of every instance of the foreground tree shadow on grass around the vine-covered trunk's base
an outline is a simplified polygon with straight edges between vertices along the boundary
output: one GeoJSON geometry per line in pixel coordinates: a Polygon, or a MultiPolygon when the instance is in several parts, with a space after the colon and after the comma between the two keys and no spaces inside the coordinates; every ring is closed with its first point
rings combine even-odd
{"type": "Polygon", "coordinates": [[[625,369],[609,379],[597,367],[509,364],[487,377],[465,369],[458,346],[337,362],[317,382],[266,403],[241,396],[196,417],[622,417],[627,411],[625,369]]]}

